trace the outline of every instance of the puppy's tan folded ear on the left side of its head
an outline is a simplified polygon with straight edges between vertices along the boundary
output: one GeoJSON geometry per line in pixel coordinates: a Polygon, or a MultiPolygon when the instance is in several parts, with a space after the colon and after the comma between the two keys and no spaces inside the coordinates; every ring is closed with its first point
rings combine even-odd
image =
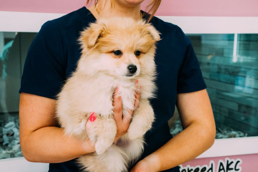
{"type": "Polygon", "coordinates": [[[106,26],[104,23],[92,23],[81,32],[79,42],[81,48],[92,48],[98,41],[98,39],[105,33],[106,26]]]}

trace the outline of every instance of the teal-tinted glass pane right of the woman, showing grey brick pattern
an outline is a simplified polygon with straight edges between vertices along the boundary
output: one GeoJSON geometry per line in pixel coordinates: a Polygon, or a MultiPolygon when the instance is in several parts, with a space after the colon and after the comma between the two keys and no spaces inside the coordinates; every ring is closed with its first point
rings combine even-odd
{"type": "MultiPolygon", "coordinates": [[[[188,34],[216,122],[216,138],[258,136],[258,34],[188,34]]],[[[171,133],[182,130],[178,112],[171,133]]]]}

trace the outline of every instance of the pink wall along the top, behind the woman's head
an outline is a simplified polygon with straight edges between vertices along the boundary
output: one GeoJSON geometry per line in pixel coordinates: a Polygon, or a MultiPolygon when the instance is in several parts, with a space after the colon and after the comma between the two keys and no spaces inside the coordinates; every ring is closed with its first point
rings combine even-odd
{"type": "MultiPolygon", "coordinates": [[[[148,3],[145,0],[143,6],[148,3]]],[[[1,0],[0,11],[69,13],[86,0],[1,0]]],[[[258,16],[258,0],[162,0],[156,15],[258,16]]]]}

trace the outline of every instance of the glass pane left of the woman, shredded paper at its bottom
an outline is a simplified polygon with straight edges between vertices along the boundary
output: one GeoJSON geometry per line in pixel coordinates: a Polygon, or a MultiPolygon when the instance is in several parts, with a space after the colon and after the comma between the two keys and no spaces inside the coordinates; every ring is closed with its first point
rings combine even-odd
{"type": "Polygon", "coordinates": [[[35,35],[0,32],[0,159],[22,156],[18,91],[26,54],[35,35]]]}

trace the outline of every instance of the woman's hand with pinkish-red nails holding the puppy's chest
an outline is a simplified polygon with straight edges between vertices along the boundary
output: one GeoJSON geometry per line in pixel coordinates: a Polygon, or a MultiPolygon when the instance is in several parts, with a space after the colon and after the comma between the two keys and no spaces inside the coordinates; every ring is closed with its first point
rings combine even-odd
{"type": "MultiPolygon", "coordinates": [[[[138,82],[136,82],[136,87],[138,87],[137,85],[138,82]]],[[[140,90],[140,88],[138,88],[137,90],[140,90]]],[[[137,108],[139,105],[139,101],[140,101],[140,91],[136,92],[135,95],[135,101],[134,101],[134,107],[137,108]]],[[[126,134],[129,125],[130,125],[130,121],[131,121],[131,117],[133,114],[133,110],[130,110],[130,118],[125,118],[122,115],[122,111],[123,111],[123,107],[122,107],[122,99],[121,97],[118,96],[118,88],[116,88],[115,92],[114,92],[114,100],[113,100],[113,106],[114,106],[114,120],[116,122],[116,127],[117,127],[117,132],[116,132],[116,137],[115,140],[118,140],[120,137],[122,137],[124,134],[126,134]]],[[[86,130],[90,130],[91,126],[93,125],[93,122],[95,120],[95,117],[93,116],[89,118],[89,120],[86,123],[86,130]]]]}

